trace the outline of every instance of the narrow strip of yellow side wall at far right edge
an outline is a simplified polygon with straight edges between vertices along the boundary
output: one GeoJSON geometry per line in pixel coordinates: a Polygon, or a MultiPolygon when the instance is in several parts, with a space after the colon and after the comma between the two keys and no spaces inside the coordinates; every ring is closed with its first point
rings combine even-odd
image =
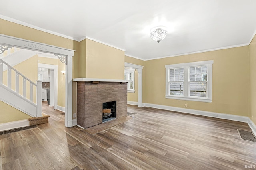
{"type": "Polygon", "coordinates": [[[249,110],[250,119],[256,124],[256,36],[254,36],[252,42],[249,45],[250,56],[250,95],[249,95],[249,110]]]}

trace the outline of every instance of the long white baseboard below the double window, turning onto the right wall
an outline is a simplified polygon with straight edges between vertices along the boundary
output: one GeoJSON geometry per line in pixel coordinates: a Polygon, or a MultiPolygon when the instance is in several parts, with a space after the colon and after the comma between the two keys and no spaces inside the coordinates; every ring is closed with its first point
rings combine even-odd
{"type": "Polygon", "coordinates": [[[172,106],[165,106],[165,105],[156,105],[156,104],[150,104],[150,103],[142,103],[142,107],[152,107],[156,109],[177,111],[177,112],[189,113],[193,115],[201,115],[201,116],[215,117],[215,118],[227,119],[227,120],[238,121],[238,122],[246,122],[248,123],[249,127],[252,129],[252,132],[256,135],[256,125],[247,116],[231,115],[226,113],[216,113],[216,112],[209,112],[209,111],[200,111],[200,110],[194,110],[194,109],[186,109],[181,107],[172,107],[172,106]]]}

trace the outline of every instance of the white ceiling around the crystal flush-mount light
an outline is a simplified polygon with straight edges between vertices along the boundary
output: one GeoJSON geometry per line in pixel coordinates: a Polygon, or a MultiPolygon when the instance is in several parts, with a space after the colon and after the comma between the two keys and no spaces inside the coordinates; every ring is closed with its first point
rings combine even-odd
{"type": "Polygon", "coordinates": [[[148,60],[248,45],[256,0],[1,0],[0,18],[148,60]],[[160,43],[150,29],[166,26],[160,43]]]}

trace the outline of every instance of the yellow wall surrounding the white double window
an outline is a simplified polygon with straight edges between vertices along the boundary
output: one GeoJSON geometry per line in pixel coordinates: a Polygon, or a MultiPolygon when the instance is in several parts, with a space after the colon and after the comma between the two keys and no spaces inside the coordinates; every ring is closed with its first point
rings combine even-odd
{"type": "Polygon", "coordinates": [[[146,61],[146,103],[248,116],[248,46],[146,61]],[[165,98],[165,65],[214,60],[212,103],[165,98]],[[150,76],[147,76],[150,75],[150,76]]]}

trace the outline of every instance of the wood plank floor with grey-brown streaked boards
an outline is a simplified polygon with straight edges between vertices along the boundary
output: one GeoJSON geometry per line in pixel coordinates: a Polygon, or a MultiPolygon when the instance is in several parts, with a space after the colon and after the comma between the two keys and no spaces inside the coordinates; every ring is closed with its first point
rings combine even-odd
{"type": "MultiPolygon", "coordinates": [[[[240,140],[246,123],[128,106],[133,119],[96,134],[64,127],[64,114],[43,105],[49,123],[0,136],[3,170],[244,169],[256,143],[240,140]]],[[[253,166],[254,165],[254,166],[253,166]]]]}

